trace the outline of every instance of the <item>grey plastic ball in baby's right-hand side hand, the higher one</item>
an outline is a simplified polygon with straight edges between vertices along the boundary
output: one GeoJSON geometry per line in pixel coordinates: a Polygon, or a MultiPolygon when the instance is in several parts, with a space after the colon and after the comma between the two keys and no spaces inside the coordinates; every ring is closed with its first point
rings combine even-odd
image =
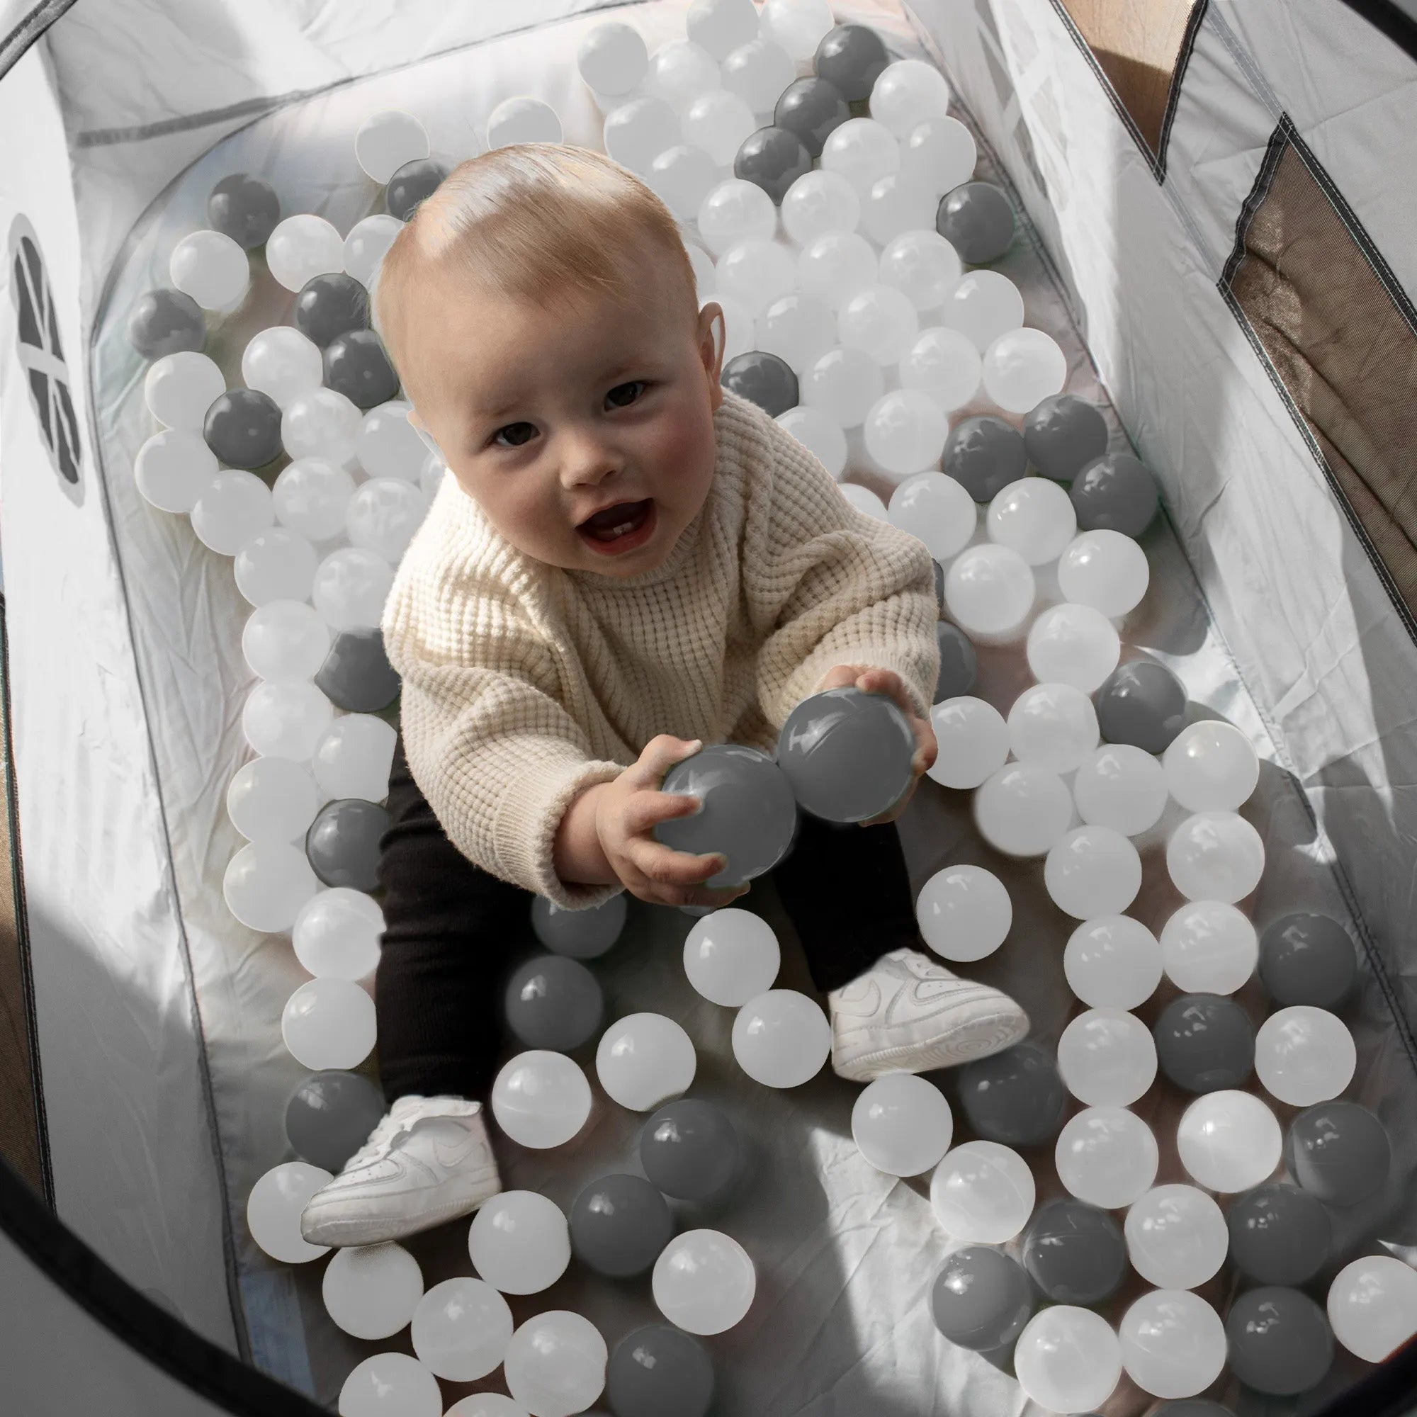
{"type": "Polygon", "coordinates": [[[798,805],[826,822],[888,811],[910,788],[914,757],[915,731],[900,706],[854,684],[803,699],[778,735],[777,761],[798,805]]]}

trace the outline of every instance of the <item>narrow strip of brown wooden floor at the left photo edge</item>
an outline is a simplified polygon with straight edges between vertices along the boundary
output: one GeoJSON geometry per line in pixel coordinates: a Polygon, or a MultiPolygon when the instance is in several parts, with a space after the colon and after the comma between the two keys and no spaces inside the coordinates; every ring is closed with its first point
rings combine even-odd
{"type": "MultiPolygon", "coordinates": [[[[4,601],[0,599],[0,645],[4,642],[4,601]]],[[[0,669],[6,660],[0,656],[0,669]]],[[[3,676],[0,676],[3,677],[3,676]]],[[[10,693],[3,690],[0,720],[0,1158],[11,1170],[44,1193],[34,1077],[30,1070],[30,1022],[24,971],[16,922],[16,881],[10,867],[10,693]]]]}

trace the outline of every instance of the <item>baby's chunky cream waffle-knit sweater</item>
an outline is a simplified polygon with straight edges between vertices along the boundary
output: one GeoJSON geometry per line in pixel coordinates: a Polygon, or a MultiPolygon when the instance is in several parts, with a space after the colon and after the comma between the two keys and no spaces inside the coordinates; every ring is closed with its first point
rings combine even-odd
{"type": "Polygon", "coordinates": [[[445,476],[384,608],[408,767],[449,840],[565,910],[623,890],[557,879],[565,809],[656,734],[771,757],[833,665],[893,669],[922,718],[934,701],[924,541],[853,507],[757,404],[724,390],[714,428],[708,496],[655,570],[527,557],[445,476]]]}

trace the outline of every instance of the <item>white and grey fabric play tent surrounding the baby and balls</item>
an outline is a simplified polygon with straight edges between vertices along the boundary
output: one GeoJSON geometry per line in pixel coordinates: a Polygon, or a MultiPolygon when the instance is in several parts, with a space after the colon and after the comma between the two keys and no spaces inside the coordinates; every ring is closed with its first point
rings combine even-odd
{"type": "MultiPolygon", "coordinates": [[[[832,9],[874,27],[893,57],[945,72],[981,176],[1006,187],[1024,224],[1000,269],[1024,290],[1029,323],[1068,353],[1067,387],[1104,405],[1112,448],[1129,444],[1159,480],[1166,516],[1146,550],[1166,595],[1129,642],[1260,751],[1253,819],[1271,869],[1257,918],[1322,910],[1353,935],[1363,988],[1348,1020],[1359,1050],[1349,1095],[1387,1125],[1393,1168],[1382,1206],[1348,1217],[1346,1238],[1410,1258],[1411,0],[832,9]]],[[[594,143],[580,38],[623,17],[653,50],[683,35],[684,10],[0,3],[9,1411],[313,1413],[373,1350],[327,1322],[317,1275],[268,1261],[245,1229],[252,1183],[289,1156],[282,1107],[303,1070],[278,1020],[303,975],[288,939],[238,925],[222,904],[239,846],[224,805],[245,754],[249,605],[230,558],[135,490],[152,429],[128,310],[167,283],[174,239],[204,225],[227,173],[264,176],[286,213],[319,211],[341,232],[381,210],[351,157],[371,112],[417,112],[435,154],[456,162],[479,150],[497,102],[533,94],[568,140],[594,143]]],[[[254,330],[288,317],[269,282],[254,289],[266,306],[208,327],[224,368],[254,330]]],[[[966,849],[968,809],[927,798],[901,835],[918,886],[966,849]]],[[[1051,956],[1066,934],[1037,907],[1016,911],[1047,961],[1019,955],[1012,973],[1005,961],[979,973],[1019,993],[1056,1040],[1070,1000],[1051,956]]],[[[673,939],[683,925],[670,922],[673,939]]],[[[706,1084],[740,1112],[761,1108],[757,1199],[738,1219],[771,1304],[713,1349],[726,1417],[1022,1411],[1007,1374],[932,1331],[922,1295],[939,1237],[918,1190],[850,1172],[846,1090],[823,1076],[767,1102],[743,1091],[721,1020],[684,995],[665,938],[663,921],[635,917],[616,1005],[680,1007],[706,1061],[721,1064],[704,1068],[706,1084]]],[[[507,1183],[568,1202],[631,1138],[611,1119],[575,1178],[553,1153],[507,1183]]],[[[429,1282],[439,1264],[466,1272],[465,1257],[461,1268],[431,1248],[419,1257],[429,1282]]],[[[612,1342],[655,1316],[643,1295],[578,1282],[558,1291],[563,1306],[612,1342]]],[[[1298,1410],[1406,1411],[1410,1359],[1387,1372],[1340,1359],[1298,1410]]],[[[1135,1391],[1118,1401],[1131,1406],[1117,1417],[1149,1410],[1135,1391]]]]}

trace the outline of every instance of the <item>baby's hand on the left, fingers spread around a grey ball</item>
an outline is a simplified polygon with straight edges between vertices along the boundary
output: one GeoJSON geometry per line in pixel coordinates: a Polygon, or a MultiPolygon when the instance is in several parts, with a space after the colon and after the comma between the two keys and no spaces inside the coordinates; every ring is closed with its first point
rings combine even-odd
{"type": "Polygon", "coordinates": [[[727,905],[748,891],[747,886],[694,890],[697,883],[717,876],[727,857],[676,852],[650,835],[656,822],[690,816],[699,809],[696,796],[659,791],[665,774],[693,757],[699,747],[659,734],[645,744],[639,762],[605,785],[595,803],[595,830],[605,859],[625,888],[652,905],[727,905]]]}

